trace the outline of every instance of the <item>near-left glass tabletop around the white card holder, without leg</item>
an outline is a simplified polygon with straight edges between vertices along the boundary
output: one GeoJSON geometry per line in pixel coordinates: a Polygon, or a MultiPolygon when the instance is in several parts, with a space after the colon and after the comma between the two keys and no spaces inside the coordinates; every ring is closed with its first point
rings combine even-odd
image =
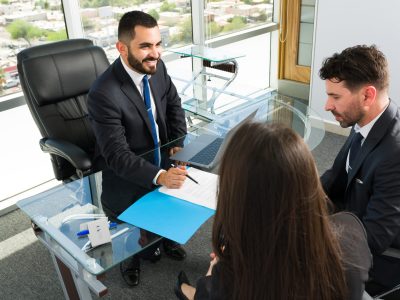
{"type": "MultiPolygon", "coordinates": [[[[85,177],[21,200],[17,205],[55,241],[56,247],[61,247],[89,273],[98,275],[142,251],[159,237],[152,235],[144,240],[139,228],[120,223],[110,229],[110,234],[116,236],[111,243],[82,250],[89,239],[77,236],[80,225],[104,216],[96,200],[93,185],[90,185],[89,177],[85,177]]],[[[38,235],[41,235],[40,231],[38,235]]]]}

